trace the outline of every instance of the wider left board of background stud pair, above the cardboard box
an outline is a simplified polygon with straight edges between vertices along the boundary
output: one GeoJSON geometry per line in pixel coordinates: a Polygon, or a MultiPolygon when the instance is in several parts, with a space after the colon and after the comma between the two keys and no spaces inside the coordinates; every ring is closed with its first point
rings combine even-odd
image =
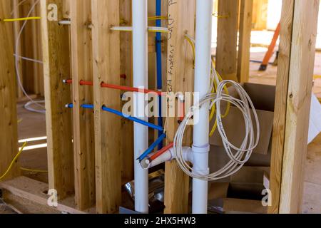
{"type": "Polygon", "coordinates": [[[216,70],[223,79],[237,81],[239,0],[218,1],[216,70]]]}

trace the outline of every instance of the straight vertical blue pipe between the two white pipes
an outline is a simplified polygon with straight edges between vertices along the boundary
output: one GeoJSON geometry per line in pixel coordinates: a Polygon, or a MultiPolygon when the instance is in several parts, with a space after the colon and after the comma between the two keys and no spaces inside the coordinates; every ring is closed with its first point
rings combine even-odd
{"type": "MultiPolygon", "coordinates": [[[[156,16],[161,16],[162,14],[162,4],[161,0],[156,0],[156,16]]],[[[161,27],[161,20],[156,20],[156,27],[161,27]]],[[[157,90],[161,91],[163,89],[163,71],[162,71],[162,35],[161,33],[156,33],[156,63],[157,63],[157,90]]],[[[163,127],[162,118],[162,97],[159,96],[159,117],[158,125],[163,127]]],[[[158,137],[161,137],[163,131],[158,132],[158,137]]],[[[163,148],[163,142],[158,145],[158,149],[163,148]]]]}

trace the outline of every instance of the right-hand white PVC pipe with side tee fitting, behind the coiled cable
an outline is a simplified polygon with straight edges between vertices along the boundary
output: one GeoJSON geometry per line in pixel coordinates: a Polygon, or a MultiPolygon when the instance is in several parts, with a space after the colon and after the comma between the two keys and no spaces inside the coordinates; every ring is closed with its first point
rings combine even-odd
{"type": "MultiPolygon", "coordinates": [[[[213,0],[196,0],[196,56],[195,56],[195,92],[203,98],[210,84],[210,55],[212,38],[213,0]]],[[[195,100],[195,105],[198,100],[195,100]]],[[[195,113],[193,133],[193,170],[208,175],[209,152],[209,106],[207,103],[195,113]]],[[[208,182],[193,179],[193,214],[208,212],[208,182]]]]}

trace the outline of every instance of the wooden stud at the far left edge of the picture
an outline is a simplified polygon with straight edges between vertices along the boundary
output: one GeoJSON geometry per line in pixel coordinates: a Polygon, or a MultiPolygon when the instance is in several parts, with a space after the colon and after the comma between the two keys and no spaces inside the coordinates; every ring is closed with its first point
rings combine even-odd
{"type": "MultiPolygon", "coordinates": [[[[12,24],[9,19],[10,1],[0,1],[0,175],[3,175],[18,152],[16,113],[16,73],[14,71],[14,50],[12,24]]],[[[5,177],[10,179],[20,174],[14,165],[5,177]]]]}

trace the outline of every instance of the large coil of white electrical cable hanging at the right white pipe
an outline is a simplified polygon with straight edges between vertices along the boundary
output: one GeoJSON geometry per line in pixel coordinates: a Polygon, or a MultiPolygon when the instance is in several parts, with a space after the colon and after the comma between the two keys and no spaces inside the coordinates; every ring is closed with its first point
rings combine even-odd
{"type": "Polygon", "coordinates": [[[253,102],[250,100],[248,93],[246,93],[243,87],[240,86],[235,81],[220,82],[218,79],[218,75],[213,66],[212,68],[213,68],[213,71],[212,71],[213,73],[211,78],[215,78],[215,81],[218,83],[217,93],[208,93],[208,95],[205,95],[205,97],[200,100],[198,105],[195,105],[190,108],[184,120],[178,127],[178,130],[174,138],[174,147],[173,147],[176,160],[180,168],[183,170],[183,172],[185,172],[185,174],[190,177],[198,178],[200,180],[207,180],[207,181],[220,180],[235,174],[235,172],[238,172],[238,170],[240,170],[243,167],[243,165],[246,162],[248,162],[248,160],[250,159],[250,156],[252,155],[253,150],[258,145],[258,142],[260,139],[260,124],[258,121],[258,114],[256,113],[255,107],[253,105],[253,102]],[[230,95],[223,93],[224,87],[227,86],[228,84],[231,84],[232,86],[234,86],[235,90],[238,92],[238,95],[240,96],[240,99],[234,98],[230,95]],[[228,140],[228,136],[225,133],[225,128],[223,126],[222,115],[221,115],[222,101],[235,105],[235,107],[238,108],[243,114],[243,118],[245,121],[245,138],[240,147],[233,145],[228,140]],[[185,129],[189,121],[193,118],[195,111],[197,111],[203,104],[208,102],[210,102],[210,109],[213,107],[213,105],[216,105],[216,119],[218,121],[218,132],[220,133],[220,137],[223,140],[225,152],[227,153],[228,157],[230,157],[230,161],[223,168],[221,168],[216,172],[213,172],[209,175],[201,175],[200,173],[193,170],[193,167],[191,167],[188,164],[188,162],[184,160],[183,138],[184,138],[185,129]],[[256,138],[255,138],[255,128],[253,126],[253,121],[251,116],[251,110],[255,118],[256,138]],[[235,151],[233,152],[233,150],[235,151]]]}

